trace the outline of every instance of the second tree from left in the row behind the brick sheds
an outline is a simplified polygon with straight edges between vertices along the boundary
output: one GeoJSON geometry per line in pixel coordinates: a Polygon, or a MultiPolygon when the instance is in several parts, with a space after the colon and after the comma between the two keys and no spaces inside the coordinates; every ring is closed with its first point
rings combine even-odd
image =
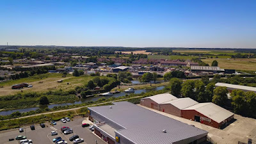
{"type": "Polygon", "coordinates": [[[182,84],[181,94],[195,100],[195,81],[189,80],[182,84]]]}

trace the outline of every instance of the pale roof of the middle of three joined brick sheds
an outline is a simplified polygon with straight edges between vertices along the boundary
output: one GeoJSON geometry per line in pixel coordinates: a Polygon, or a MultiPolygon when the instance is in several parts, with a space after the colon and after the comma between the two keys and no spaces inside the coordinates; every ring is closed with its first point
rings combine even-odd
{"type": "Polygon", "coordinates": [[[198,104],[198,102],[196,102],[193,99],[190,99],[189,97],[186,97],[186,98],[170,100],[168,102],[163,102],[162,104],[172,104],[173,106],[175,106],[178,109],[184,109],[184,108],[188,108],[189,106],[198,104]]]}

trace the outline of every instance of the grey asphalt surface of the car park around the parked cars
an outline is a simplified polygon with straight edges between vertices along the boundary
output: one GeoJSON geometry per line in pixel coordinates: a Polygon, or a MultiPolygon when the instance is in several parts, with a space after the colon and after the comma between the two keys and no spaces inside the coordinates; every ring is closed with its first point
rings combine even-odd
{"type": "Polygon", "coordinates": [[[40,125],[35,125],[35,130],[31,131],[30,127],[23,127],[26,128],[26,132],[19,132],[19,129],[12,129],[11,131],[3,131],[0,133],[0,143],[1,144],[17,144],[19,143],[18,140],[15,140],[15,136],[26,136],[28,139],[32,140],[33,143],[36,144],[52,144],[52,139],[60,136],[63,140],[67,141],[69,144],[73,143],[68,139],[73,136],[73,134],[63,134],[61,133],[60,129],[63,126],[70,127],[74,131],[74,135],[77,134],[79,138],[83,138],[84,142],[81,144],[94,144],[95,140],[97,140],[98,144],[106,144],[102,141],[98,136],[93,134],[90,131],[89,127],[82,127],[81,124],[84,118],[77,118],[72,122],[62,123],[57,122],[57,125],[52,126],[49,122],[45,123],[45,128],[40,127],[40,125]],[[51,136],[51,131],[57,131],[58,135],[51,136]],[[9,141],[9,138],[13,138],[14,141],[9,141]]]}

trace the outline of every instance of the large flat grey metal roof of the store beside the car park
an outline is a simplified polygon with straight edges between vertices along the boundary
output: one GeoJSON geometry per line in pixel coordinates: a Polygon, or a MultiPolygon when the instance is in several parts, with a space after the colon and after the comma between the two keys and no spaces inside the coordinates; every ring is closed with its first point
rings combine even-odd
{"type": "Polygon", "coordinates": [[[116,134],[136,144],[171,144],[181,140],[191,142],[207,135],[207,131],[141,108],[130,102],[115,102],[113,104],[111,108],[98,106],[89,109],[111,120],[111,122],[125,127],[125,129],[116,131],[116,134]],[[166,133],[163,132],[163,129],[166,129],[166,133]]]}

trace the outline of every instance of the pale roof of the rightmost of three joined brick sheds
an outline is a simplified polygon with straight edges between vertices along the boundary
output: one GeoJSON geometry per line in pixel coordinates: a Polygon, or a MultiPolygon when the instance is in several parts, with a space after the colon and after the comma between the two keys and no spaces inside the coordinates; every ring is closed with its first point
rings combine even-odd
{"type": "Polygon", "coordinates": [[[226,120],[230,116],[234,115],[234,113],[231,113],[227,109],[221,108],[220,106],[217,106],[216,104],[213,104],[212,102],[205,102],[200,104],[195,104],[194,106],[191,106],[189,108],[183,109],[183,110],[195,110],[199,113],[202,113],[202,115],[207,116],[208,118],[211,118],[215,122],[222,122],[223,120],[226,120]]]}

